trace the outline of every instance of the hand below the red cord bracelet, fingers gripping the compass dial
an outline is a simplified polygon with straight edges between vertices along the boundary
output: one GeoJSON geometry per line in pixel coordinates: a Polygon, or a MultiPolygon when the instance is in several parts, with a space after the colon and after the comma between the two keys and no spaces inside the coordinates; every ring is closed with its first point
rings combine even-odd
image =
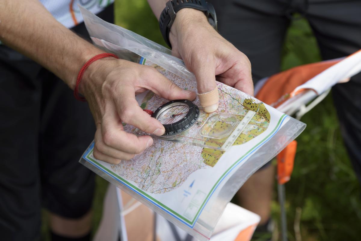
{"type": "Polygon", "coordinates": [[[122,122],[150,134],[164,134],[164,126],[145,113],[135,100],[136,94],[147,89],[168,100],[195,98],[195,92],[179,88],[150,66],[103,58],[88,67],[79,92],[87,99],[96,123],[95,158],[117,164],[134,158],[153,144],[150,136],[125,132],[122,122]]]}

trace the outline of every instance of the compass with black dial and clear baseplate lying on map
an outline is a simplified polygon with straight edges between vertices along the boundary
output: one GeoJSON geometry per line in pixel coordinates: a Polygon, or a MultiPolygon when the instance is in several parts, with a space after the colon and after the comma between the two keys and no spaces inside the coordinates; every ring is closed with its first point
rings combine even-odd
{"type": "Polygon", "coordinates": [[[145,111],[150,111],[148,113],[165,128],[164,134],[155,136],[156,138],[223,151],[235,143],[256,114],[255,111],[248,110],[242,119],[239,115],[229,113],[204,116],[200,115],[198,106],[189,100],[172,100],[161,105],[154,113],[151,110],[145,111]],[[196,127],[193,127],[194,124],[196,127]],[[179,135],[190,128],[191,132],[179,135]]]}

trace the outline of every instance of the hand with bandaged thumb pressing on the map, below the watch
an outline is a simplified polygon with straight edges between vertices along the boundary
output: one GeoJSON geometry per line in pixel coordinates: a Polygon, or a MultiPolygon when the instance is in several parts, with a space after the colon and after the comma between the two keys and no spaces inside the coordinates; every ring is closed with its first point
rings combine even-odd
{"type": "MultiPolygon", "coordinates": [[[[169,39],[172,53],[182,58],[195,74],[199,94],[213,91],[217,79],[253,95],[251,62],[210,26],[203,12],[191,8],[179,10],[169,39]]],[[[206,112],[217,110],[218,94],[212,100],[200,98],[200,104],[206,112]]]]}

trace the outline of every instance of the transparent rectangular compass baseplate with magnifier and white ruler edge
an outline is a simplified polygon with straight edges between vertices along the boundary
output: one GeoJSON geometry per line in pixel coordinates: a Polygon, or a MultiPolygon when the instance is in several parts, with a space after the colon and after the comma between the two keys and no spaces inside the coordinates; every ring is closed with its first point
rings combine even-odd
{"type": "Polygon", "coordinates": [[[150,135],[157,139],[226,151],[233,145],[253,115],[253,111],[248,111],[246,116],[239,120],[237,115],[227,113],[201,114],[190,128],[176,135],[155,136],[145,133],[138,128],[134,133],[136,135],[150,135]],[[202,116],[204,117],[202,118],[202,116]]]}

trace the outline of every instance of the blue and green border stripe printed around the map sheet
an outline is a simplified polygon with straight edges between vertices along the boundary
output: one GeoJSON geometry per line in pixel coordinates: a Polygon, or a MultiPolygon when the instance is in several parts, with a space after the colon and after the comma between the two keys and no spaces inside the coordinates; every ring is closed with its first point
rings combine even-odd
{"type": "Polygon", "coordinates": [[[93,152],[93,148],[94,148],[94,143],[91,144],[91,146],[87,149],[87,151],[83,154],[83,158],[91,163],[93,166],[95,166],[96,168],[100,169],[101,171],[107,173],[108,175],[110,175],[113,179],[116,179],[118,182],[120,182],[121,184],[123,184],[125,187],[133,190],[134,192],[138,193],[140,196],[142,196],[143,198],[145,198],[146,200],[148,200],[149,202],[153,203],[155,206],[157,206],[158,208],[160,208],[161,210],[167,212],[169,215],[173,216],[175,219],[179,220],[180,222],[184,223],[185,225],[187,225],[188,227],[193,228],[195,223],[197,222],[202,210],[204,209],[204,207],[206,206],[208,200],[210,199],[210,197],[212,196],[212,194],[214,193],[214,191],[217,189],[218,185],[223,181],[223,179],[242,161],[244,161],[245,158],[247,158],[249,155],[251,155],[253,152],[255,152],[258,148],[260,148],[264,143],[266,143],[271,137],[273,137],[275,135],[275,133],[278,132],[279,128],[282,126],[283,121],[286,119],[286,117],[288,117],[288,115],[283,114],[279,120],[277,125],[275,126],[275,128],[271,131],[271,133],[268,134],[268,136],[266,136],[263,140],[261,140],[259,143],[257,143],[255,146],[253,146],[253,148],[251,148],[250,150],[248,150],[248,152],[246,152],[242,157],[240,157],[237,161],[235,161],[223,174],[222,176],[217,180],[217,182],[213,185],[212,189],[209,191],[208,195],[206,196],[204,202],[202,203],[202,205],[199,207],[195,217],[193,218],[193,220],[189,220],[186,217],[178,214],[176,211],[172,210],[171,208],[167,207],[166,205],[164,205],[163,203],[159,202],[158,200],[156,200],[155,198],[149,196],[145,191],[143,191],[142,189],[136,187],[135,185],[131,184],[129,181],[123,179],[121,176],[115,174],[113,171],[109,170],[108,168],[104,167],[103,165],[101,165],[99,162],[97,162],[95,159],[90,157],[90,154],[93,152]]]}

